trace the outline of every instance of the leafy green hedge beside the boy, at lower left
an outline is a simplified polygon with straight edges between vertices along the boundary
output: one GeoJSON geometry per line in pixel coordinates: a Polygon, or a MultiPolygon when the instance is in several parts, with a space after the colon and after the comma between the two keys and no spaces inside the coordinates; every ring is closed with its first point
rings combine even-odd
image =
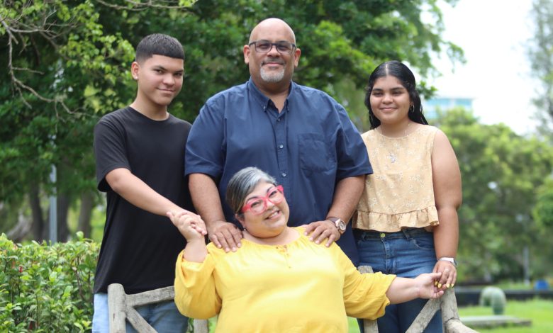
{"type": "Polygon", "coordinates": [[[88,332],[99,243],[14,244],[0,236],[0,332],[88,332]]]}

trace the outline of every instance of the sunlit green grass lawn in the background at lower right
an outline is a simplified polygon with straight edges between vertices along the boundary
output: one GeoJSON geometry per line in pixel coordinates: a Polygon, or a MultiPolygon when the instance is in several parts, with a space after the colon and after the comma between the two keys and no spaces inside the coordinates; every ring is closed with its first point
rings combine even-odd
{"type": "MultiPolygon", "coordinates": [[[[493,315],[491,307],[460,307],[459,316],[493,315]]],[[[518,302],[508,300],[505,315],[532,320],[530,327],[498,327],[495,329],[476,329],[482,333],[550,333],[553,332],[553,301],[529,300],[518,302]]],[[[357,321],[348,318],[349,333],[359,333],[357,321]]]]}

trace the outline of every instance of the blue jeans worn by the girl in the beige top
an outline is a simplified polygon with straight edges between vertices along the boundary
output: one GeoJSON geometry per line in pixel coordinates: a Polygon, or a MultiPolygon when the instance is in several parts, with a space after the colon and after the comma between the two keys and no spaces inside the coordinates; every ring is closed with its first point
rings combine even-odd
{"type": "MultiPolygon", "coordinates": [[[[354,230],[359,265],[371,266],[374,272],[415,278],[430,273],[436,264],[434,236],[423,228],[408,228],[400,232],[354,230]]],[[[379,332],[406,332],[423,310],[427,300],[416,299],[388,305],[386,313],[376,322],[379,332]]],[[[424,332],[442,332],[442,315],[438,311],[424,332]]]]}

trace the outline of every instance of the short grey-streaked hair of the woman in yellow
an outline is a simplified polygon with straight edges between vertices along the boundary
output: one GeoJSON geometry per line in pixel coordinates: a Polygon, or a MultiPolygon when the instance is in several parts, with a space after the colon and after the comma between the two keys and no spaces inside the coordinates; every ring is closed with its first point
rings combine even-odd
{"type": "Polygon", "coordinates": [[[277,181],[272,176],[254,166],[249,166],[234,174],[228,181],[226,193],[227,203],[234,213],[241,214],[240,210],[244,206],[246,197],[262,181],[277,185],[277,181]]]}

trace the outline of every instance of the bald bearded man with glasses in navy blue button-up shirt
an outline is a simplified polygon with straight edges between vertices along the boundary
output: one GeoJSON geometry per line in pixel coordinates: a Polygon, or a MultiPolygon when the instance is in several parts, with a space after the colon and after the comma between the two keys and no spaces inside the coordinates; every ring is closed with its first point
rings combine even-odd
{"type": "Polygon", "coordinates": [[[196,210],[217,247],[235,251],[242,232],[225,204],[230,177],[257,166],[284,186],[289,225],[307,225],[313,242],[332,242],[357,261],[351,227],[367,149],[345,109],[323,91],[292,81],[300,49],[278,18],[259,23],[244,45],[251,78],[208,99],[186,145],[186,174],[196,210]]]}

